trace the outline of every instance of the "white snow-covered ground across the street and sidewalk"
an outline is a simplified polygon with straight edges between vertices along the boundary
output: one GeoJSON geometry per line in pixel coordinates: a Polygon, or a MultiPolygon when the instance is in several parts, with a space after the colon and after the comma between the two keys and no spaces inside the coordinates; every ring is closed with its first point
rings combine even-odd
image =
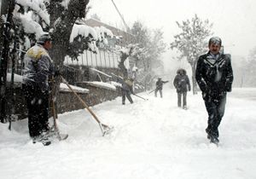
{"type": "MultiPolygon", "coordinates": [[[[256,89],[234,89],[228,95],[220,125],[219,147],[207,140],[207,112],[201,94],[188,94],[189,109],[177,107],[175,90],[121,98],[91,109],[103,124],[114,126],[102,137],[84,110],[59,115],[66,141],[48,147],[32,144],[27,120],[0,124],[0,177],[90,179],[254,179],[256,178],[256,89]]],[[[79,101],[78,101],[79,102],[79,101]]]]}

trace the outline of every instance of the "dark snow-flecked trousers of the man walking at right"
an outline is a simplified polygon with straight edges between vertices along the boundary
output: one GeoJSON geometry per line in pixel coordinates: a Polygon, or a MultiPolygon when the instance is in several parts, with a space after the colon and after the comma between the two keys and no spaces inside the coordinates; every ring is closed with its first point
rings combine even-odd
{"type": "Polygon", "coordinates": [[[214,97],[207,97],[207,99],[205,99],[208,113],[207,133],[216,137],[218,137],[218,125],[224,116],[226,94],[217,96],[217,99],[214,99],[214,97]]]}

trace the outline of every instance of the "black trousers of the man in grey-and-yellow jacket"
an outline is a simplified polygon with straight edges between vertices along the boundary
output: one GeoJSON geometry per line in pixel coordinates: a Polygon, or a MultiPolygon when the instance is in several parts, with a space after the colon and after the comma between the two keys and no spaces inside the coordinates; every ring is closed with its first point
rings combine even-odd
{"type": "Polygon", "coordinates": [[[49,94],[48,91],[42,92],[38,86],[22,85],[26,107],[28,110],[28,130],[31,137],[39,136],[44,131],[49,130],[48,110],[49,94]]]}

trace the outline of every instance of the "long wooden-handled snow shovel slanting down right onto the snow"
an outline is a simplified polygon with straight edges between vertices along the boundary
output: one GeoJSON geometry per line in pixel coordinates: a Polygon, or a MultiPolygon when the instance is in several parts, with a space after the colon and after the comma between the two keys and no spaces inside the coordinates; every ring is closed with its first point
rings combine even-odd
{"type": "Polygon", "coordinates": [[[69,90],[71,90],[73,92],[74,95],[76,95],[78,98],[79,98],[79,101],[82,103],[82,105],[84,106],[84,108],[86,108],[89,113],[93,116],[93,118],[96,119],[96,122],[100,125],[100,128],[102,130],[102,136],[105,136],[106,134],[109,134],[112,130],[113,130],[113,127],[109,127],[108,125],[106,124],[102,124],[101,121],[99,120],[99,118],[96,117],[96,114],[93,113],[93,111],[90,109],[90,107],[88,107],[88,105],[84,102],[84,100],[73,90],[73,88],[67,83],[66,79],[62,78],[62,82],[64,84],[67,84],[67,87],[69,88],[69,90]]]}

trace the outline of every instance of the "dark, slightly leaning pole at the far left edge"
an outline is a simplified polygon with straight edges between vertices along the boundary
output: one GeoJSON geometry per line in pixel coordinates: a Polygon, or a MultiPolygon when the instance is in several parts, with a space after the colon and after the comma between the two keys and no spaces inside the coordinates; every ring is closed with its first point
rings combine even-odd
{"type": "Polygon", "coordinates": [[[6,22],[3,23],[3,49],[0,58],[0,120],[2,123],[5,123],[7,119],[6,78],[9,61],[10,30],[13,25],[14,9],[15,0],[10,0],[7,19],[6,22]]]}

